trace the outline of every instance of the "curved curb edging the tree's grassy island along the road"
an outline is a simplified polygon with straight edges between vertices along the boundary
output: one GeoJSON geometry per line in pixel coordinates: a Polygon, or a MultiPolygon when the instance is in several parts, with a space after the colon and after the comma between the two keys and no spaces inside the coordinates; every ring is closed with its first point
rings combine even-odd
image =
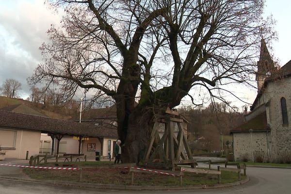
{"type": "Polygon", "coordinates": [[[250,180],[249,177],[246,177],[243,180],[226,183],[226,184],[215,184],[213,186],[208,185],[196,185],[196,186],[136,186],[136,185],[108,185],[108,184],[97,184],[97,183],[81,183],[81,182],[69,182],[69,181],[57,181],[57,180],[35,180],[35,179],[26,179],[26,178],[15,178],[15,177],[3,177],[0,176],[1,179],[10,179],[10,180],[19,180],[26,182],[36,182],[41,184],[54,184],[54,185],[62,185],[62,186],[70,186],[70,187],[82,187],[89,189],[110,189],[110,190],[147,190],[147,191],[155,191],[155,190],[195,190],[195,189],[218,189],[225,187],[232,187],[244,184],[250,180]]]}

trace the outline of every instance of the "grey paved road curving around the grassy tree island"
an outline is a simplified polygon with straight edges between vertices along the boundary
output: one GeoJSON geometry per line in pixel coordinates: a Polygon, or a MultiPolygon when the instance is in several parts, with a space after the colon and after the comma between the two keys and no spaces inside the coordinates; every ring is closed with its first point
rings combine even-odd
{"type": "MultiPolygon", "coordinates": [[[[291,169],[248,168],[251,180],[244,185],[210,190],[142,191],[139,193],[166,194],[290,194],[291,169]]],[[[136,191],[92,190],[77,187],[55,186],[26,181],[0,179],[0,194],[125,194],[136,191]]]]}

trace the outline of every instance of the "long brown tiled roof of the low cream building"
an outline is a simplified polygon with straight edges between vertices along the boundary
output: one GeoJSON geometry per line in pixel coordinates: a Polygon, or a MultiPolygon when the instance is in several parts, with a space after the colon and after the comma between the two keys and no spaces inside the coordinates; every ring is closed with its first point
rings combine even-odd
{"type": "Polygon", "coordinates": [[[73,121],[64,121],[29,114],[12,113],[0,110],[0,126],[40,130],[68,135],[83,135],[93,137],[117,138],[117,130],[106,127],[97,127],[73,121]]]}

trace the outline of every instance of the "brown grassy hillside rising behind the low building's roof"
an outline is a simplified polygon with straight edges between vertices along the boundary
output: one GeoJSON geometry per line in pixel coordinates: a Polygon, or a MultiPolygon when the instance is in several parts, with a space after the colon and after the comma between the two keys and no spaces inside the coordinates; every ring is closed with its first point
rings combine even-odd
{"type": "Polygon", "coordinates": [[[50,118],[67,120],[71,118],[73,110],[67,110],[63,107],[44,107],[40,103],[32,103],[21,98],[0,97],[0,109],[17,104],[25,104],[33,110],[49,116],[50,118]]]}

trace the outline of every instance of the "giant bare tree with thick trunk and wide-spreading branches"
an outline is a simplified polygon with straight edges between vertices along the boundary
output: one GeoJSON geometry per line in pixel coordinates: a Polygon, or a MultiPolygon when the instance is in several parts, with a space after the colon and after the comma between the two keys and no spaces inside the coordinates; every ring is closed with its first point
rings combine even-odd
{"type": "Polygon", "coordinates": [[[250,81],[261,35],[273,35],[263,0],[49,2],[65,16],[49,29],[30,83],[57,84],[68,98],[78,88],[112,97],[125,162],[142,155],[159,109],[185,96],[198,103],[191,89],[223,99],[224,85],[250,81]]]}

